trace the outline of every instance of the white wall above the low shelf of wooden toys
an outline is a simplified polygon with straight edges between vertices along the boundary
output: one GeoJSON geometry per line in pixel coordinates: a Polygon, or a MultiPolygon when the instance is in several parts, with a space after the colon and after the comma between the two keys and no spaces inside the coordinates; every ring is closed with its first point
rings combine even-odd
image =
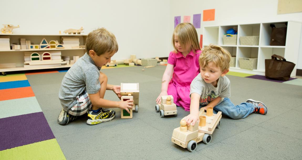
{"type": "Polygon", "coordinates": [[[0,24],[19,24],[15,34],[64,34],[81,26],[88,34],[105,27],[119,44],[112,59],[161,57],[169,53],[169,5],[169,0],[2,1],[0,24]]]}

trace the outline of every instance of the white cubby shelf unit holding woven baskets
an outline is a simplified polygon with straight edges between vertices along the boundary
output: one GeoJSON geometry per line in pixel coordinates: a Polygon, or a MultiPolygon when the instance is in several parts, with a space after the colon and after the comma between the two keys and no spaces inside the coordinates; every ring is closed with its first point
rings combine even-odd
{"type": "Polygon", "coordinates": [[[279,21],[265,22],[253,24],[236,24],[236,25],[220,25],[205,26],[203,28],[203,47],[209,44],[217,44],[230,52],[232,56],[236,56],[236,66],[230,67],[230,71],[242,72],[256,75],[265,75],[265,59],[271,59],[273,54],[283,56],[287,61],[296,64],[291,72],[291,77],[296,75],[298,53],[300,46],[301,22],[297,21],[279,21]],[[286,27],[287,34],[285,46],[270,46],[271,27],[275,24],[278,27],[286,27]],[[236,45],[223,45],[223,35],[230,28],[237,30],[236,45]],[[241,36],[259,36],[259,45],[247,46],[240,45],[239,38],[241,36]],[[257,68],[253,70],[241,69],[239,67],[239,58],[258,58],[257,68]]]}

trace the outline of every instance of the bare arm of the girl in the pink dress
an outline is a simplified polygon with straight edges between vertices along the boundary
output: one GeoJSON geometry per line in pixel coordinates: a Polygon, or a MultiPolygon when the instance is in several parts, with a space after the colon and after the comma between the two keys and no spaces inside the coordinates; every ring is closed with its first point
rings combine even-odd
{"type": "Polygon", "coordinates": [[[173,65],[168,63],[167,67],[165,69],[164,75],[162,76],[162,89],[161,89],[159,96],[156,98],[156,103],[158,103],[158,104],[160,103],[160,96],[168,95],[168,93],[167,93],[168,85],[172,78],[173,67],[174,67],[173,65]]]}

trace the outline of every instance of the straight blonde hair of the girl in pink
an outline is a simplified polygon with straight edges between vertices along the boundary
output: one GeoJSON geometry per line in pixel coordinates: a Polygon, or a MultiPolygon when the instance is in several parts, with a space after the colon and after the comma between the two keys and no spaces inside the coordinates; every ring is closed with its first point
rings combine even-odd
{"type": "Polygon", "coordinates": [[[176,49],[174,44],[175,36],[178,37],[178,41],[183,47],[185,47],[187,44],[191,44],[190,51],[194,49],[195,53],[195,50],[201,50],[198,43],[196,29],[191,23],[180,23],[174,29],[172,36],[172,45],[174,47],[174,53],[177,53],[178,50],[176,49]]]}

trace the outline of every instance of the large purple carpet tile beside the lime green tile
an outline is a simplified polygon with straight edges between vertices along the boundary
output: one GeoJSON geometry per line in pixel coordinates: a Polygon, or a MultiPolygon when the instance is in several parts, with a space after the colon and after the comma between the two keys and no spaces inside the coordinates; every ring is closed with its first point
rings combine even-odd
{"type": "Polygon", "coordinates": [[[43,112],[0,119],[0,151],[53,138],[43,112]]]}

